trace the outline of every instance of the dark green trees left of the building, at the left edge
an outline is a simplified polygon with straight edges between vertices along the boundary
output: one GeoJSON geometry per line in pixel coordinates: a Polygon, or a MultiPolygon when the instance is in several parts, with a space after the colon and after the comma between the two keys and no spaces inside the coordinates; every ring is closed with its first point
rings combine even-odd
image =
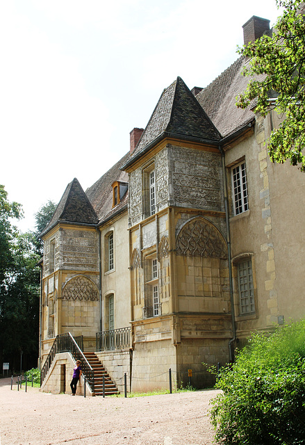
{"type": "Polygon", "coordinates": [[[13,225],[22,207],[8,201],[0,186],[0,363],[19,371],[37,366],[40,268],[42,256],[38,234],[49,223],[55,204],[48,202],[36,215],[36,232],[22,234],[13,225]]]}

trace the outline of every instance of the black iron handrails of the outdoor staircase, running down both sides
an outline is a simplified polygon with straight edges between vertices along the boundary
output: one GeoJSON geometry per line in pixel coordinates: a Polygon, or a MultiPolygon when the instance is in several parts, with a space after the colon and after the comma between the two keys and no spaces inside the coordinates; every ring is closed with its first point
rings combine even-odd
{"type": "Polygon", "coordinates": [[[42,370],[40,372],[40,385],[44,381],[49,369],[51,368],[51,364],[53,362],[54,357],[58,353],[70,353],[74,360],[80,360],[81,362],[81,370],[83,371],[83,375],[85,376],[85,380],[89,383],[92,393],[94,392],[94,371],[87,359],[82,353],[83,348],[83,336],[74,337],[70,332],[66,332],[65,334],[60,334],[56,337],[53,342],[53,345],[50,349],[49,355],[47,356],[44,365],[42,366],[42,370]]]}

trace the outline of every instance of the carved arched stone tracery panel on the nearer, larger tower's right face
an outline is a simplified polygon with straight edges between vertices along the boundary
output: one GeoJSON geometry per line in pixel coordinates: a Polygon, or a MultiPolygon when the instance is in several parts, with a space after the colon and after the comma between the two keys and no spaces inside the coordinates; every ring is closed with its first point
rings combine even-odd
{"type": "Polygon", "coordinates": [[[226,259],[227,249],[224,238],[208,220],[190,220],[176,238],[176,253],[191,257],[226,259]]]}

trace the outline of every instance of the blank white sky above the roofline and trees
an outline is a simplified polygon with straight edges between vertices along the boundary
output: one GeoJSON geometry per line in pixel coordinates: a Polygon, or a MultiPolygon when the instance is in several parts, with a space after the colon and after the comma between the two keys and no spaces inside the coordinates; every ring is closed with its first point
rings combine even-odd
{"type": "Polygon", "coordinates": [[[163,88],[204,87],[233,63],[242,25],[275,0],[4,0],[0,6],[0,184],[19,227],[85,190],[129,150],[163,88]]]}

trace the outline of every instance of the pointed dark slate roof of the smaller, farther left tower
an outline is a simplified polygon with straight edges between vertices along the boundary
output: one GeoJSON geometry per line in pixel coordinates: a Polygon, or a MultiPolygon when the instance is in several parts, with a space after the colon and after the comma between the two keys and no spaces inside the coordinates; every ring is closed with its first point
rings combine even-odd
{"type": "Polygon", "coordinates": [[[60,222],[88,225],[96,225],[98,223],[97,213],[95,213],[92,204],[76,178],[67,185],[49,225],[44,228],[40,237],[44,236],[60,222]]]}

